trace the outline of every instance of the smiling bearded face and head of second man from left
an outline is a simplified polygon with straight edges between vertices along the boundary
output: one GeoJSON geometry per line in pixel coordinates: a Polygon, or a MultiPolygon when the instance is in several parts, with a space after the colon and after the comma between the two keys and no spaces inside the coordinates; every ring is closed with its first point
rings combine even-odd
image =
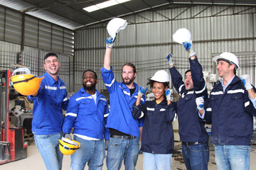
{"type": "Polygon", "coordinates": [[[85,72],[82,76],[82,86],[84,86],[85,91],[95,91],[97,81],[93,72],[85,72]]]}

